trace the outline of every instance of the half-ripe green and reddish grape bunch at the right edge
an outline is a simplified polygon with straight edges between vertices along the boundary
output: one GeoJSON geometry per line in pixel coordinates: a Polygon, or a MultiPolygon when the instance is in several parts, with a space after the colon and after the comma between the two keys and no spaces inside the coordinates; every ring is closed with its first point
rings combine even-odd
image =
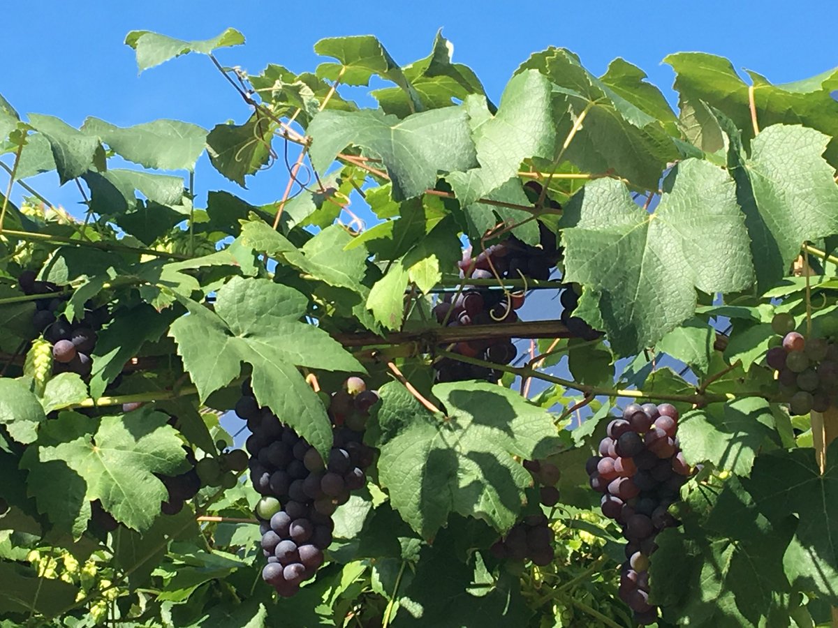
{"type": "Polygon", "coordinates": [[[787,313],[775,315],[771,327],[778,336],[772,338],[765,361],[777,371],[779,391],[789,397],[791,414],[825,412],[838,405],[838,322],[830,320],[821,329],[827,337],[806,338],[795,332],[794,317],[787,313]]]}

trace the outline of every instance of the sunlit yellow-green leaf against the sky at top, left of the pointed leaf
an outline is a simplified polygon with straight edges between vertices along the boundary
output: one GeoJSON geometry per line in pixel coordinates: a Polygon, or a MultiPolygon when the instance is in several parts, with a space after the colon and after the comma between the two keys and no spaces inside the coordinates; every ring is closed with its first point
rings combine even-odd
{"type": "Polygon", "coordinates": [[[344,85],[370,85],[370,77],[379,75],[396,83],[410,100],[411,113],[422,111],[422,102],[401,71],[399,64],[372,35],[332,37],[314,44],[314,52],[334,57],[339,63],[319,64],[319,78],[339,80],[344,85]]]}

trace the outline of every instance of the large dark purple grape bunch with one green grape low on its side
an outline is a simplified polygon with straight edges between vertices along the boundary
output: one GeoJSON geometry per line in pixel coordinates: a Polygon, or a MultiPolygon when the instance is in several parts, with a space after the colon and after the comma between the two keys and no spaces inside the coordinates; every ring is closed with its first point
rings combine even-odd
{"type": "Polygon", "coordinates": [[[365,470],[375,452],[364,445],[364,430],[379,397],[357,377],[348,378],[334,394],[321,393],[334,426],[334,445],[323,461],[291,427],[259,407],[249,383],[242,393],[235,413],[251,430],[246,441],[251,482],[263,496],[256,504],[267,560],[262,579],[279,595],[291,597],[323,564],[323,550],[332,543],[334,511],[349,500],[350,491],[366,484],[365,470]]]}

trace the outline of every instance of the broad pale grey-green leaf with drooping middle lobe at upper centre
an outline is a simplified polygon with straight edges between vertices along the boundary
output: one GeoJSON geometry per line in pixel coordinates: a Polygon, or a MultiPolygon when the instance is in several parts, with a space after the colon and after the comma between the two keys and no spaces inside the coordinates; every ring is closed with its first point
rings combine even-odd
{"type": "Polygon", "coordinates": [[[477,166],[463,107],[424,111],[399,120],[379,111],[323,111],[308,126],[312,165],[326,172],[349,145],[380,157],[396,201],[413,198],[437,183],[437,173],[477,166]]]}

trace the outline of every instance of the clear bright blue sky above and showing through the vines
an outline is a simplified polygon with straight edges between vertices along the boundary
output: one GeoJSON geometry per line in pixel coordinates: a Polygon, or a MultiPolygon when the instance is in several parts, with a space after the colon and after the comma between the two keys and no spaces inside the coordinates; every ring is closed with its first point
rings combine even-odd
{"type": "MultiPolygon", "coordinates": [[[[223,64],[258,73],[268,63],[297,72],[313,70],[322,60],[313,53],[318,39],[365,33],[377,35],[406,64],[427,55],[442,28],[454,44],[454,60],[471,66],[495,101],[518,64],[550,45],[571,49],[596,74],[610,60],[623,57],[644,69],[673,105],[674,75],[661,60],[674,52],[721,54],[737,69],[757,70],[775,83],[804,79],[838,64],[834,9],[830,3],[807,0],[8,4],[0,39],[5,62],[0,94],[21,114],[51,114],[73,126],[96,116],[118,126],[173,118],[209,129],[248,116],[241,98],[204,56],[188,55],[137,75],[133,51],[123,44],[132,29],[207,39],[227,27],[237,28],[247,44],[221,50],[218,57],[223,64]]],[[[10,162],[8,156],[4,159],[10,162]]],[[[75,186],[59,188],[54,173],[28,183],[53,203],[80,210],[75,186]]],[[[275,168],[249,178],[250,189],[242,190],[221,178],[204,156],[196,175],[196,204],[202,206],[206,193],[215,189],[227,189],[254,204],[268,203],[282,196],[284,184],[284,169],[275,168]]],[[[13,198],[19,193],[18,188],[13,198]]],[[[539,297],[528,303],[525,318],[554,317],[551,301],[539,297]]]]}

